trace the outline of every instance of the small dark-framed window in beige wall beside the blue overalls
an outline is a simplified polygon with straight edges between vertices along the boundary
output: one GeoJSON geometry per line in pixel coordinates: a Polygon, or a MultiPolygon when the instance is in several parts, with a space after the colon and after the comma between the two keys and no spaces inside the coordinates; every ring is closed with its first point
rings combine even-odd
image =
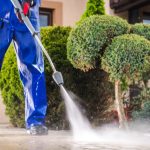
{"type": "Polygon", "coordinates": [[[53,10],[40,8],[40,26],[50,26],[53,25],[53,10]]]}

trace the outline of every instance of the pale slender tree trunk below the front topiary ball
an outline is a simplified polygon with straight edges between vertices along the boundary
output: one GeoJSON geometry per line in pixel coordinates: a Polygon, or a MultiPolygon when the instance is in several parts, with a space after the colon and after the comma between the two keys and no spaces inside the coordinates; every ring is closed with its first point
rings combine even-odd
{"type": "Polygon", "coordinates": [[[115,102],[116,102],[116,109],[118,112],[119,128],[128,129],[127,119],[123,107],[123,100],[121,98],[121,87],[119,80],[115,81],[115,102]]]}

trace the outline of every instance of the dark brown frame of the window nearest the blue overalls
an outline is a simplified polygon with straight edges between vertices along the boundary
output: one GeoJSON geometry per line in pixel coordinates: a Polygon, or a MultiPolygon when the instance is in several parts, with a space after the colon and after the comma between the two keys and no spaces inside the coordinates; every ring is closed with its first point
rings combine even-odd
{"type": "Polygon", "coordinates": [[[53,25],[53,9],[40,7],[39,14],[46,15],[48,17],[48,26],[53,25]]]}

